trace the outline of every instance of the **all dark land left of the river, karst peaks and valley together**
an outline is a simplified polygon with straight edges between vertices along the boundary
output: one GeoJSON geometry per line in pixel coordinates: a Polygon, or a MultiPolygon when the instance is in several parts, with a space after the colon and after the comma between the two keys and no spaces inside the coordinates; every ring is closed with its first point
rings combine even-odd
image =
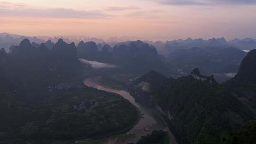
{"type": "Polygon", "coordinates": [[[35,47],[24,39],[9,54],[0,50],[1,144],[70,144],[126,131],[137,121],[128,100],[83,85],[74,43],[46,43],[35,47]]]}

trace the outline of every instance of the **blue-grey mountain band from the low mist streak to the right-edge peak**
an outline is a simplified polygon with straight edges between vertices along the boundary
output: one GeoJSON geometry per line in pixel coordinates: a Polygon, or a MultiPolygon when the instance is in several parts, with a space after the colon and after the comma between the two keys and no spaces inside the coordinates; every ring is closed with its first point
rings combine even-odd
{"type": "Polygon", "coordinates": [[[95,42],[81,41],[77,45],[78,57],[118,65],[115,72],[146,72],[153,69],[167,75],[183,76],[199,67],[203,74],[215,74],[218,81],[235,75],[246,56],[246,52],[229,45],[179,48],[165,56],[159,54],[155,46],[139,40],[119,43],[113,48],[107,44],[101,47],[95,42]]]}

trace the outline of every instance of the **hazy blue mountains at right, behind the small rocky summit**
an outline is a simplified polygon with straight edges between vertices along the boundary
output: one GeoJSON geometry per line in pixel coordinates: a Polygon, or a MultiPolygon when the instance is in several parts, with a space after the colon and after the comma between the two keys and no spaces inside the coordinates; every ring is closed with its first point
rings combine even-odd
{"type": "Polygon", "coordinates": [[[172,66],[172,73],[187,75],[195,67],[204,74],[236,73],[246,53],[235,47],[192,47],[178,49],[166,55],[165,61],[172,66]]]}

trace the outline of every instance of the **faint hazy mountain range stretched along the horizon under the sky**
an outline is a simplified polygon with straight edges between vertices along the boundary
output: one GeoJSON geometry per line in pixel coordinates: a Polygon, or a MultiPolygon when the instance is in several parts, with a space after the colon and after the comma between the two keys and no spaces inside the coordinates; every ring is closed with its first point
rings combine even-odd
{"type": "MultiPolygon", "coordinates": [[[[84,42],[90,42],[93,41],[96,44],[105,45],[108,44],[110,46],[119,45],[120,43],[124,42],[131,42],[135,41],[139,38],[134,36],[122,36],[122,37],[109,37],[106,40],[103,40],[102,38],[95,38],[95,37],[88,37],[88,36],[21,36],[21,35],[13,35],[9,33],[0,33],[0,47],[6,48],[8,51],[8,48],[11,45],[18,45],[24,38],[29,39],[31,42],[35,42],[37,44],[46,42],[47,40],[51,40],[52,42],[56,43],[59,38],[63,39],[67,43],[74,42],[76,45],[78,45],[81,41],[84,42]]],[[[244,39],[238,39],[235,38],[233,40],[227,41],[225,38],[212,38],[212,39],[192,39],[187,38],[185,40],[183,39],[177,39],[177,40],[170,40],[170,41],[143,41],[144,43],[154,45],[160,54],[163,52],[172,52],[176,50],[177,48],[191,48],[191,47],[203,47],[203,46],[235,46],[238,49],[241,50],[252,50],[256,48],[256,39],[253,38],[244,38],[244,39]]]]}

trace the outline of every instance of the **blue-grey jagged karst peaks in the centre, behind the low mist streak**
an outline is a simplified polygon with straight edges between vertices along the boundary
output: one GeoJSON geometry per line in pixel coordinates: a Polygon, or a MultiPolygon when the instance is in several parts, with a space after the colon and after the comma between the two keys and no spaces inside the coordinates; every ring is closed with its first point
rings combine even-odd
{"type": "Polygon", "coordinates": [[[114,71],[134,73],[147,72],[150,69],[166,72],[166,66],[161,61],[154,46],[134,41],[115,45],[104,45],[99,51],[95,42],[81,41],[77,45],[78,57],[86,60],[115,64],[114,71]]]}

